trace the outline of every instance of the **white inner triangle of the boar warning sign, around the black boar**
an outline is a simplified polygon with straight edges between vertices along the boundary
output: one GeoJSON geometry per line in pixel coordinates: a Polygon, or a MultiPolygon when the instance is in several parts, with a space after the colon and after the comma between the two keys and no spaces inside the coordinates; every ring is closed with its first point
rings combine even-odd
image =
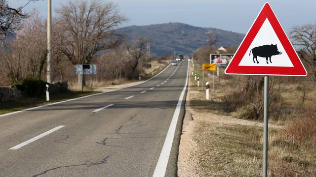
{"type": "MultiPolygon", "coordinates": [[[[276,49],[276,48],[275,48],[276,49]]],[[[239,66],[287,66],[287,67],[293,67],[293,64],[286,54],[286,51],[284,50],[280,40],[278,39],[275,30],[272,28],[270,22],[268,19],[265,20],[263,23],[261,29],[259,29],[256,37],[253,39],[252,43],[250,44],[250,47],[248,48],[246,54],[241,59],[239,66]],[[266,58],[257,56],[257,60],[259,63],[257,63],[256,59],[254,58],[254,54],[252,49],[258,46],[262,45],[276,45],[277,51],[281,52],[280,55],[274,55],[270,59],[268,59],[268,63],[266,61],[266,58]],[[250,55],[249,55],[250,54],[250,55]],[[255,62],[254,62],[255,61],[255,62]]]]}

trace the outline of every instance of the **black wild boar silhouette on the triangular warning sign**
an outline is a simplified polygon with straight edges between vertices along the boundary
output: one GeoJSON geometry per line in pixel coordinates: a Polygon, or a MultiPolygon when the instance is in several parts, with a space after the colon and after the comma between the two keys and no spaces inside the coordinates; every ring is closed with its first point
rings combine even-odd
{"type": "Polygon", "coordinates": [[[257,57],[263,57],[263,58],[266,58],[267,60],[267,64],[269,64],[268,62],[268,58],[270,59],[270,63],[272,63],[271,61],[271,57],[274,56],[274,55],[281,55],[282,52],[279,52],[277,50],[277,46],[276,45],[262,45],[262,46],[258,46],[258,47],[255,47],[253,49],[250,50],[250,53],[249,53],[249,56],[251,55],[251,51],[252,51],[252,55],[253,55],[253,62],[255,62],[255,59],[257,61],[257,63],[259,63],[257,57]]]}

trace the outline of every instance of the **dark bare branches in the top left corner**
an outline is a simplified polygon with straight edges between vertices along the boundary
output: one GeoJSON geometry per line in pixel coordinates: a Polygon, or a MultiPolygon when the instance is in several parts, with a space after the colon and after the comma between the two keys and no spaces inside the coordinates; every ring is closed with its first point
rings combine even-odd
{"type": "Polygon", "coordinates": [[[0,0],[0,36],[3,39],[9,31],[20,29],[21,20],[27,16],[22,13],[22,8],[12,8],[7,0],[0,0]]]}

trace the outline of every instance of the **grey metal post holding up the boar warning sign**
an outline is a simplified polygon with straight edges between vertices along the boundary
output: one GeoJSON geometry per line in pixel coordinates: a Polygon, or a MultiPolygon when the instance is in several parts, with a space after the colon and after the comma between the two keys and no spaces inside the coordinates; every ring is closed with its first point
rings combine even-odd
{"type": "Polygon", "coordinates": [[[264,107],[263,107],[263,177],[268,176],[268,119],[269,119],[269,76],[265,76],[264,107]]]}

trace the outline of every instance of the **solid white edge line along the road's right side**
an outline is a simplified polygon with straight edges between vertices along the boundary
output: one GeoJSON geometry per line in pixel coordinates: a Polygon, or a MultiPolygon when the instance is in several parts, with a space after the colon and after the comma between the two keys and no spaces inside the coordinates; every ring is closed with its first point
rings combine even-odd
{"type": "Polygon", "coordinates": [[[161,153],[160,153],[158,163],[156,165],[156,169],[155,169],[153,177],[164,177],[164,175],[166,173],[168,160],[169,160],[169,156],[170,156],[170,152],[171,152],[171,148],[172,148],[173,138],[174,138],[174,134],[175,134],[176,127],[177,127],[178,118],[180,115],[183,97],[184,97],[185,91],[186,91],[187,86],[188,86],[188,78],[189,78],[189,62],[188,62],[186,84],[185,84],[185,86],[180,94],[180,98],[179,98],[177,107],[174,111],[169,129],[168,129],[168,133],[166,135],[166,139],[164,140],[163,147],[162,147],[162,150],[161,150],[161,153]]]}

